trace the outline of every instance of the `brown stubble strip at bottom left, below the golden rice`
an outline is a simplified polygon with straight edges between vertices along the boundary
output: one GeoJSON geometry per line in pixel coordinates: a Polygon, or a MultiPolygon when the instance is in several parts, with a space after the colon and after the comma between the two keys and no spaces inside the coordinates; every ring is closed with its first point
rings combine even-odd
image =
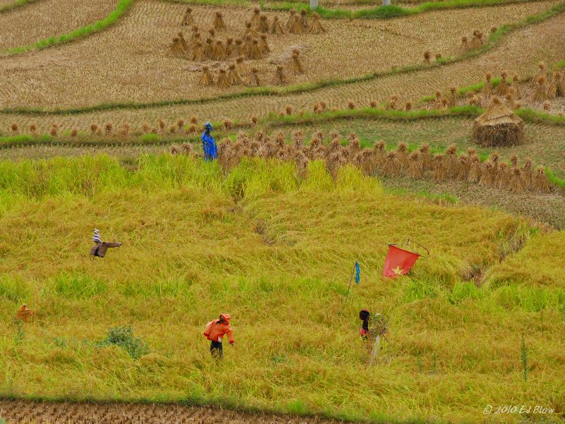
{"type": "Polygon", "coordinates": [[[71,402],[1,401],[0,418],[7,423],[73,424],[337,424],[319,417],[297,417],[272,413],[246,413],[220,408],[176,404],[93,404],[71,402]]]}

